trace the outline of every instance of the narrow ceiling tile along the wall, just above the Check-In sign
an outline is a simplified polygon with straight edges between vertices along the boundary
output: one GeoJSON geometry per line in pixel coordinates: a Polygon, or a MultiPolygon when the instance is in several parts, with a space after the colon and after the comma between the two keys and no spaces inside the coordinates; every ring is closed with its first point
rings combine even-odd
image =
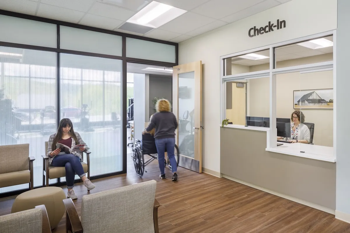
{"type": "Polygon", "coordinates": [[[237,12],[235,14],[226,16],[226,17],[224,17],[221,20],[225,21],[225,22],[232,23],[232,22],[244,19],[244,18],[246,18],[248,16],[257,14],[259,12],[262,12],[264,10],[270,9],[272,7],[275,7],[275,6],[279,5],[279,4],[281,4],[281,3],[278,2],[278,1],[275,1],[275,0],[266,0],[266,1],[263,1],[263,2],[260,2],[260,3],[256,4],[256,5],[254,5],[252,7],[243,9],[240,12],[237,12]]]}

